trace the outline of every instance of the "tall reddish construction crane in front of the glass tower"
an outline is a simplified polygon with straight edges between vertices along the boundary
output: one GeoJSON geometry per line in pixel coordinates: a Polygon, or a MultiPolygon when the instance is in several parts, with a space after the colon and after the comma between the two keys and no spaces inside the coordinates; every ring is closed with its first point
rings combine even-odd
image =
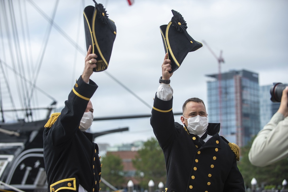
{"type": "MultiPolygon", "coordinates": [[[[209,49],[209,51],[214,55],[214,57],[217,59],[218,61],[218,96],[219,96],[219,123],[221,126],[222,123],[222,91],[221,91],[221,63],[224,63],[224,59],[222,57],[222,50],[220,50],[220,55],[219,57],[217,57],[217,55],[212,51],[212,49],[207,45],[207,43],[202,40],[202,42],[206,45],[206,47],[209,49]]],[[[221,135],[221,131],[222,129],[220,129],[220,135],[221,135]]]]}

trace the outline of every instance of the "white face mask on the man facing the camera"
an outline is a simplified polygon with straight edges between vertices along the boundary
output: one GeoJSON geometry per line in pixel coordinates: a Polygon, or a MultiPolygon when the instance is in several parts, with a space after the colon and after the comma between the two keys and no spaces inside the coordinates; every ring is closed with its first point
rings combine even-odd
{"type": "Polygon", "coordinates": [[[200,135],[204,133],[208,127],[208,119],[207,117],[202,117],[197,115],[195,117],[185,118],[188,121],[187,129],[190,133],[194,135],[200,135]]]}

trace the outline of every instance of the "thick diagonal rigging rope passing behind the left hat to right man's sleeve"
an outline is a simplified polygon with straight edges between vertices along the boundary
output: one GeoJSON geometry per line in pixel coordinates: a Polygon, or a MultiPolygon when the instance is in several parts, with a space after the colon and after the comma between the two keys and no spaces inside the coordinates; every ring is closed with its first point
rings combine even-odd
{"type": "MultiPolygon", "coordinates": [[[[55,22],[53,22],[53,19],[50,18],[46,13],[43,12],[43,10],[40,9],[32,0],[27,0],[31,5],[37,10],[43,18],[45,18],[50,25],[53,25],[53,27],[63,36],[65,37],[80,53],[82,53],[84,56],[86,56],[86,52],[71,38],[67,33],[65,33],[55,22]]],[[[126,89],[129,93],[131,93],[134,97],[136,97],[138,100],[140,100],[142,103],[144,103],[149,109],[152,108],[147,102],[145,102],[143,99],[141,99],[138,95],[136,95],[132,90],[130,90],[127,86],[125,86],[122,82],[120,82],[118,79],[113,77],[110,73],[107,71],[104,71],[104,73],[112,78],[114,81],[116,81],[120,86],[122,86],[124,89],[126,89]]]]}

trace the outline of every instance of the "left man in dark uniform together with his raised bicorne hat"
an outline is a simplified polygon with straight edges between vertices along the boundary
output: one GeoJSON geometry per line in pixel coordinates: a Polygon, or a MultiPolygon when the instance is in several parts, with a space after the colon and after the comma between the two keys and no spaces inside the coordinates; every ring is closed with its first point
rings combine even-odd
{"type": "MultiPolygon", "coordinates": [[[[94,1],[94,0],[93,0],[94,1]]],[[[94,1],[95,2],[95,1],[94,1]]],[[[83,74],[76,81],[61,113],[53,113],[43,132],[44,162],[49,192],[96,192],[101,187],[101,156],[93,134],[90,98],[98,88],[90,76],[106,70],[116,26],[102,4],[84,9],[87,55],[83,74]]]]}

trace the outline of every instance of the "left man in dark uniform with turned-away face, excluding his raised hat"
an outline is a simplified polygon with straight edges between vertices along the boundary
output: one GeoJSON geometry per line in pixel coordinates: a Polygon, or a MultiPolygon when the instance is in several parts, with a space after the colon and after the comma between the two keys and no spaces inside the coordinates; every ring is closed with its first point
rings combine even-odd
{"type": "Polygon", "coordinates": [[[100,191],[101,162],[92,133],[85,132],[93,121],[90,98],[97,85],[90,80],[96,67],[91,46],[85,57],[83,74],[65,101],[61,113],[54,113],[43,132],[44,162],[49,192],[100,191]]]}

